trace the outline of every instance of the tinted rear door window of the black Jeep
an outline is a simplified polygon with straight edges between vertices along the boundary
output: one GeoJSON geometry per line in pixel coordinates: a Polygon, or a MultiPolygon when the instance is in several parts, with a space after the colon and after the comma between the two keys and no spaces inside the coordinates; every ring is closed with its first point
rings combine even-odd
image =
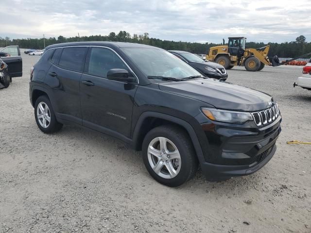
{"type": "Polygon", "coordinates": [[[82,71],[86,50],[86,47],[65,48],[60,57],[59,66],[66,69],[82,71]]]}

